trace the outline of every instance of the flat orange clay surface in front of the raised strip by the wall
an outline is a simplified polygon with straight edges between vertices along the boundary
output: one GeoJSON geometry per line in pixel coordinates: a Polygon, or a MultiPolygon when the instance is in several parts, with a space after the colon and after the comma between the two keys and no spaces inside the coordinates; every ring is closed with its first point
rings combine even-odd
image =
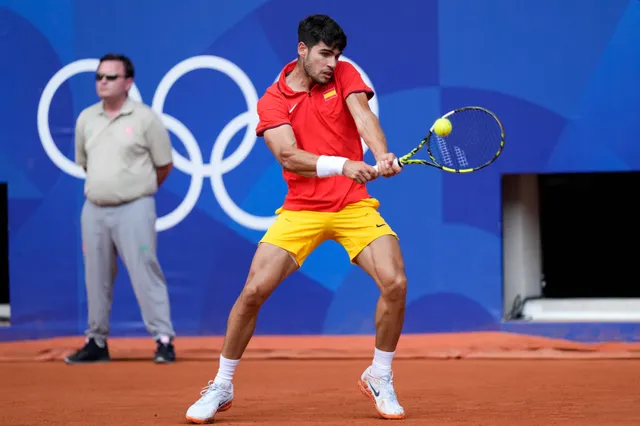
{"type": "MultiPolygon", "coordinates": [[[[216,423],[229,425],[638,425],[640,361],[401,360],[405,420],[379,420],[357,387],[366,362],[249,360],[216,423]]],[[[216,362],[0,364],[0,424],[181,425],[216,362]]]]}

